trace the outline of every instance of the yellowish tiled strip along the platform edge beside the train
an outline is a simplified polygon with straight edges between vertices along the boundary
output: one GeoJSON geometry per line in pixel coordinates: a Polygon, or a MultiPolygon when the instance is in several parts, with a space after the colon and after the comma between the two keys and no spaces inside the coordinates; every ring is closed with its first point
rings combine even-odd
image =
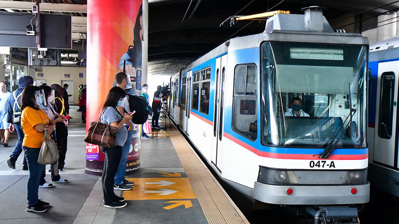
{"type": "MultiPolygon", "coordinates": [[[[233,200],[231,200],[229,195],[227,195],[227,193],[223,189],[223,187],[221,187],[219,182],[215,179],[215,177],[213,177],[213,175],[207,169],[207,167],[202,162],[202,160],[199,158],[197,153],[195,153],[194,149],[192,149],[190,144],[182,136],[181,133],[176,133],[176,130],[177,130],[176,127],[173,126],[171,132],[167,131],[168,132],[168,136],[169,136],[170,140],[172,141],[172,144],[173,144],[173,146],[174,146],[174,148],[176,150],[176,153],[178,154],[178,157],[180,159],[180,162],[183,165],[184,170],[188,171],[188,173],[186,172],[186,175],[189,178],[189,181],[190,181],[190,176],[192,176],[192,177],[196,176],[196,178],[194,178],[194,179],[201,181],[201,183],[199,183],[198,181],[192,181],[193,183],[191,183],[191,181],[190,181],[190,184],[192,184],[192,189],[193,189],[194,193],[196,194],[196,196],[198,198],[198,201],[200,202],[200,206],[201,206],[201,208],[203,208],[204,206],[209,208],[209,205],[213,204],[212,207],[214,207],[214,208],[212,208],[212,210],[211,210],[212,212],[205,212],[204,211],[204,215],[205,215],[208,223],[209,224],[220,223],[221,218],[223,218],[225,223],[230,224],[230,223],[232,223],[232,221],[233,221],[232,219],[234,217],[231,217],[231,215],[229,215],[229,213],[233,212],[233,213],[238,214],[238,217],[240,218],[239,220],[234,220],[235,222],[233,222],[233,223],[249,224],[249,221],[247,220],[247,218],[245,218],[245,216],[241,212],[241,210],[239,210],[239,208],[235,205],[233,200]],[[197,158],[197,161],[195,161],[195,159],[194,159],[195,157],[197,158]],[[196,166],[193,166],[192,162],[194,162],[194,164],[196,166]],[[202,169],[198,167],[198,165],[199,165],[198,162],[203,166],[203,167],[201,167],[202,169]],[[194,169],[186,170],[186,166],[189,165],[189,164],[191,164],[190,167],[194,167],[194,169]],[[195,168],[195,167],[198,167],[199,169],[195,168]],[[201,173],[201,175],[198,174],[198,171],[199,171],[199,173],[201,173]],[[206,173],[211,177],[211,179],[215,183],[214,186],[217,186],[217,188],[219,188],[221,193],[224,195],[225,200],[227,200],[227,202],[229,202],[228,204],[231,205],[231,207],[233,208],[230,212],[227,212],[225,209],[219,209],[218,208],[217,202],[220,202],[220,198],[219,198],[219,200],[213,200],[213,198],[212,198],[212,196],[211,196],[211,194],[209,192],[209,189],[215,189],[215,187],[212,188],[212,186],[205,185],[205,183],[212,183],[212,182],[205,181],[205,183],[204,183],[203,179],[201,179],[201,176],[206,174],[206,173]],[[194,183],[196,183],[196,184],[194,184],[194,183]],[[203,187],[201,185],[203,185],[203,187],[205,187],[207,192],[203,191],[204,189],[203,189],[203,187]],[[198,192],[198,190],[199,190],[199,192],[198,192]],[[201,193],[201,194],[199,194],[199,193],[201,193]],[[210,202],[209,200],[205,199],[205,198],[208,198],[208,197],[210,197],[212,199],[213,203],[206,203],[206,202],[210,202]],[[206,204],[204,204],[204,202],[206,204]],[[225,217],[224,215],[228,215],[228,217],[225,217]]],[[[189,167],[187,167],[187,168],[189,168],[189,167]]],[[[209,179],[207,179],[207,180],[209,180],[209,179]]],[[[227,210],[230,210],[230,209],[227,209],[227,210]]],[[[237,217],[237,216],[235,216],[235,217],[237,217]]]]}

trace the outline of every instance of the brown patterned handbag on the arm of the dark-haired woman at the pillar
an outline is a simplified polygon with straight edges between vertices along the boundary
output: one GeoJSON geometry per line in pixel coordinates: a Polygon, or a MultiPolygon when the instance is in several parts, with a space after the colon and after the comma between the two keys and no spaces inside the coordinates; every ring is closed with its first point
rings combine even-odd
{"type": "Polygon", "coordinates": [[[115,140],[117,139],[118,128],[111,126],[111,124],[101,123],[101,116],[104,110],[101,112],[99,120],[97,122],[90,122],[90,128],[87,131],[85,142],[101,145],[107,148],[115,147],[115,140]]]}

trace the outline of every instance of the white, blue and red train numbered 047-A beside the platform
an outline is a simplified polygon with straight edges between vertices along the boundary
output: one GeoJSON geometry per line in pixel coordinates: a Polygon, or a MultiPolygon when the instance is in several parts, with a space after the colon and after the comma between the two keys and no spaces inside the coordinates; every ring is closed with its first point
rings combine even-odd
{"type": "Polygon", "coordinates": [[[263,33],[173,75],[167,115],[235,191],[314,223],[359,223],[370,192],[369,42],[334,31],[323,8],[303,11],[275,12],[263,33]]]}

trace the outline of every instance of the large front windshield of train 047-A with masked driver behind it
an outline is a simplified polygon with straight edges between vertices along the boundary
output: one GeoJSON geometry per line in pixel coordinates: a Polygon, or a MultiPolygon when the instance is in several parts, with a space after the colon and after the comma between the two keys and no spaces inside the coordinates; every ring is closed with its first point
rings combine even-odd
{"type": "Polygon", "coordinates": [[[261,142],[367,147],[365,45],[263,42],[261,142]]]}

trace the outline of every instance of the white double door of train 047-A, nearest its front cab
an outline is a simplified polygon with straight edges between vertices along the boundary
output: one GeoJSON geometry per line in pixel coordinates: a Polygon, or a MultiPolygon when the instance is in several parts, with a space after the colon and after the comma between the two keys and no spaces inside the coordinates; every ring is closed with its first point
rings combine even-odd
{"type": "MultiPolygon", "coordinates": [[[[221,147],[223,136],[223,98],[224,81],[227,64],[227,55],[216,58],[215,76],[215,109],[213,114],[213,136],[212,136],[212,156],[211,162],[217,167],[217,150],[221,147]]],[[[218,168],[219,169],[219,168],[218,168]]],[[[220,169],[219,169],[220,171],[220,169]]]]}

